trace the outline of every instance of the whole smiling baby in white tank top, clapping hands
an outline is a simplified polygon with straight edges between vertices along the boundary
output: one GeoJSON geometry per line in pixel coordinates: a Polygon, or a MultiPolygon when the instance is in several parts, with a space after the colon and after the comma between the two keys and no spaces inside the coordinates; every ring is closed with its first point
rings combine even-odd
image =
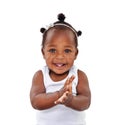
{"type": "Polygon", "coordinates": [[[74,65],[82,32],[64,20],[61,13],[57,22],[40,30],[46,65],[34,74],[30,90],[37,125],[85,125],[84,110],[90,106],[87,76],[74,65]]]}

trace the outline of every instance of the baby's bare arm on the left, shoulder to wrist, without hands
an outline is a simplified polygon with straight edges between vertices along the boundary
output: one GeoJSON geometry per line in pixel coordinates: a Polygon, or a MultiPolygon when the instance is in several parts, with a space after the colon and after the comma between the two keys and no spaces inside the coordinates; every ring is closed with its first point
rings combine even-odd
{"type": "Polygon", "coordinates": [[[43,82],[43,74],[38,71],[33,76],[32,87],[30,90],[30,101],[33,108],[38,110],[53,107],[54,101],[59,98],[59,93],[47,93],[43,82]]]}

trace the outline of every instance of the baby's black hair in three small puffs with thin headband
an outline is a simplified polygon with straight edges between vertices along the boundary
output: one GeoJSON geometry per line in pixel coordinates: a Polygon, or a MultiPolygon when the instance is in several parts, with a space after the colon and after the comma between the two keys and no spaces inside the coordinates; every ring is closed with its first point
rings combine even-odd
{"type": "Polygon", "coordinates": [[[41,28],[40,32],[43,33],[43,38],[42,38],[42,47],[44,47],[45,45],[45,41],[46,41],[46,37],[47,37],[47,33],[52,30],[52,29],[56,29],[56,30],[69,30],[72,31],[72,33],[74,34],[74,39],[75,39],[75,46],[78,46],[78,36],[81,36],[82,32],[76,31],[72,25],[70,25],[69,23],[65,22],[65,15],[63,13],[58,14],[58,21],[54,22],[50,27],[48,27],[48,29],[46,28],[41,28]]]}

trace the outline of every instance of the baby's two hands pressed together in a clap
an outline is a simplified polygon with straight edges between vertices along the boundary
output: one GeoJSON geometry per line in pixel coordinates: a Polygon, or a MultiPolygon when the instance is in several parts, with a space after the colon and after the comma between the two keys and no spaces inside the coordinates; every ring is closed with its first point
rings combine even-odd
{"type": "Polygon", "coordinates": [[[65,82],[64,87],[59,91],[60,98],[55,101],[55,104],[67,104],[72,100],[72,81],[75,76],[71,76],[65,82]]]}

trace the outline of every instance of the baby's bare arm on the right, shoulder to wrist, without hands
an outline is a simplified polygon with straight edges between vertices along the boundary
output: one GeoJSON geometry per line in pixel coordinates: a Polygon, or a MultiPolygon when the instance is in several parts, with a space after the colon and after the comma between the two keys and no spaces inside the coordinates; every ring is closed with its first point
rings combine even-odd
{"type": "Polygon", "coordinates": [[[78,70],[77,95],[73,96],[72,100],[65,105],[75,110],[82,111],[89,108],[90,101],[91,101],[91,92],[87,76],[84,72],[78,70]]]}

